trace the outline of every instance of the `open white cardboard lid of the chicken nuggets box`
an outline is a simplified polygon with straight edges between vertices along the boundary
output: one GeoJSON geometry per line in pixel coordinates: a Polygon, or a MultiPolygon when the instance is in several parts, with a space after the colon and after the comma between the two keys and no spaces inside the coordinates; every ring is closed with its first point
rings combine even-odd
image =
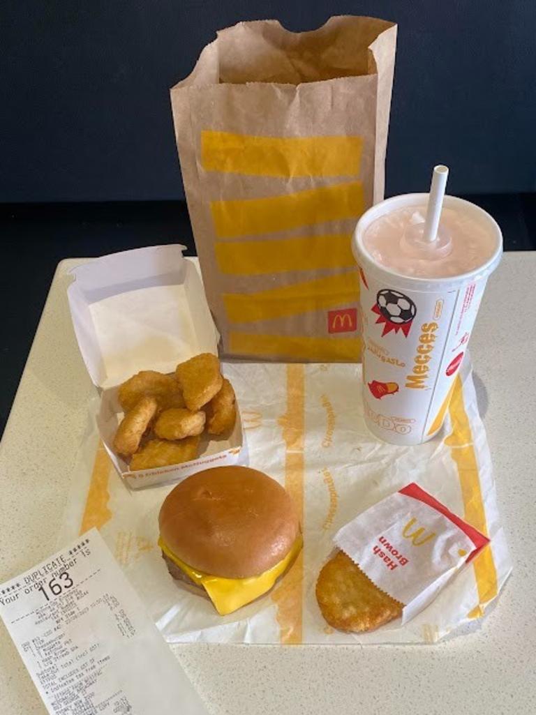
{"type": "Polygon", "coordinates": [[[203,284],[183,250],[138,248],[72,270],[74,332],[97,387],[118,385],[139,370],[170,373],[200,352],[218,354],[203,284]]]}

